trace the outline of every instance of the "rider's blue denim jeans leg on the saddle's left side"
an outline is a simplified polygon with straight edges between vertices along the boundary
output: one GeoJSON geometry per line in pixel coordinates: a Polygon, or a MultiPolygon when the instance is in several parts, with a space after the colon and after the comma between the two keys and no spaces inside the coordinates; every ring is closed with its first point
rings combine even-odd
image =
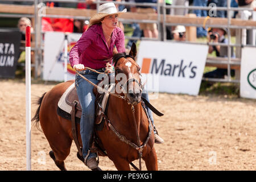
{"type": "MultiPolygon", "coordinates": [[[[97,84],[97,76],[84,75],[88,80],[97,84]]],[[[76,76],[76,89],[79,97],[79,102],[82,107],[82,115],[80,120],[80,134],[82,139],[82,156],[85,158],[88,155],[90,140],[93,134],[94,127],[94,101],[95,96],[93,94],[93,85],[84,80],[81,76],[76,76]]],[[[87,159],[96,158],[96,153],[90,153],[87,159]]]]}

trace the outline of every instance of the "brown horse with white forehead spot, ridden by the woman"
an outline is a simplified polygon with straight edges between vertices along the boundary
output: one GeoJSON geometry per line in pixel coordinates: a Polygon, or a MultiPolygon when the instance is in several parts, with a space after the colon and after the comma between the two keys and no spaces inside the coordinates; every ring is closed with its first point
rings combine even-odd
{"type": "MultiPolygon", "coordinates": [[[[150,125],[152,126],[152,124],[148,121],[147,114],[141,103],[141,90],[139,90],[138,84],[141,83],[139,77],[140,68],[133,59],[136,53],[136,46],[133,44],[129,55],[125,55],[125,53],[117,53],[114,55],[115,73],[124,73],[127,78],[129,78],[126,81],[127,88],[133,89],[129,90],[127,93],[119,94],[125,97],[127,101],[110,94],[109,109],[106,115],[115,131],[125,136],[130,143],[138,144],[139,138],[139,146],[143,146],[144,144],[143,148],[141,148],[141,156],[146,163],[147,169],[158,170],[154,148],[154,132],[150,130],[150,125]],[[133,87],[130,85],[133,85],[133,87]],[[131,110],[131,105],[134,106],[134,113],[133,110],[131,110]],[[134,125],[134,121],[136,125],[134,125]],[[135,126],[137,126],[137,128],[135,128],[135,126]],[[145,142],[146,140],[147,142],[145,142]]],[[[57,84],[49,92],[44,93],[38,100],[39,107],[35,117],[32,119],[37,124],[40,121],[43,133],[46,135],[49,145],[52,148],[49,154],[56,166],[61,170],[66,170],[64,160],[69,155],[73,137],[71,121],[57,114],[57,103],[65,90],[73,82],[74,81],[67,81],[57,84]]],[[[79,124],[76,125],[78,131],[77,136],[80,146],[82,146],[79,132],[80,126],[79,124]]],[[[115,167],[118,170],[130,170],[129,164],[139,158],[138,148],[131,147],[131,145],[120,140],[117,134],[110,130],[106,123],[101,131],[96,131],[96,135],[100,138],[108,154],[108,158],[113,161],[115,167]]],[[[99,152],[99,154],[101,153],[99,152]]]]}

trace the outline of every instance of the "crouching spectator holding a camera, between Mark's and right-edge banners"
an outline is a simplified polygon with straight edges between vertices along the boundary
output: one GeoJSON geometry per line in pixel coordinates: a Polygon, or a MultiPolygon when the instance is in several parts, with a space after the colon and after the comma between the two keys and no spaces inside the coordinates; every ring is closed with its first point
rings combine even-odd
{"type": "MultiPolygon", "coordinates": [[[[228,39],[225,38],[227,34],[227,28],[211,28],[208,34],[208,41],[213,43],[225,43],[228,44],[228,39]]],[[[224,46],[209,46],[208,53],[216,52],[217,57],[228,57],[228,47],[224,46]]],[[[233,47],[231,49],[231,56],[233,55],[233,47]]],[[[224,78],[227,75],[227,69],[217,68],[214,71],[204,74],[207,78],[224,78]]],[[[234,76],[234,70],[231,70],[231,76],[234,76]]]]}

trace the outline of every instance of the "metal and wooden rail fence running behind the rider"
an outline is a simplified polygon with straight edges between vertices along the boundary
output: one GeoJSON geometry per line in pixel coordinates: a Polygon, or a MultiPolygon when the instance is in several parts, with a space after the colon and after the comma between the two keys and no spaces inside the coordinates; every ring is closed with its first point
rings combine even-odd
{"type": "MultiPolygon", "coordinates": [[[[22,1],[24,2],[24,1],[22,1]]],[[[93,14],[97,13],[97,10],[90,10],[90,9],[74,9],[74,8],[67,8],[67,7],[45,7],[40,6],[46,0],[30,0],[27,2],[34,2],[34,5],[6,5],[0,4],[0,17],[6,18],[14,18],[14,17],[21,17],[27,16],[28,18],[32,18],[34,22],[34,29],[35,29],[35,47],[32,47],[35,51],[35,78],[37,77],[38,68],[42,68],[43,61],[42,61],[42,51],[43,51],[43,44],[42,44],[42,34],[41,31],[41,19],[42,17],[50,17],[50,18],[74,18],[74,19],[88,19],[93,14]],[[36,6],[35,6],[36,5],[36,6]]],[[[79,3],[84,2],[76,1],[76,0],[55,0],[55,2],[64,2],[64,3],[79,3]]],[[[97,7],[100,3],[106,3],[109,1],[98,1],[96,0],[97,7]]],[[[230,76],[230,69],[236,68],[240,69],[241,63],[241,53],[238,53],[238,57],[233,59],[231,57],[231,47],[237,47],[241,49],[241,47],[255,47],[254,45],[246,45],[244,42],[245,40],[240,40],[236,44],[231,43],[231,35],[230,35],[230,28],[234,28],[237,30],[246,30],[246,29],[255,29],[256,28],[256,21],[254,20],[243,20],[243,19],[233,19],[230,18],[230,11],[253,11],[249,8],[231,8],[230,7],[230,0],[228,0],[228,7],[214,7],[215,10],[225,10],[228,12],[228,18],[205,18],[205,17],[191,17],[191,16],[181,16],[181,15],[167,15],[166,9],[189,9],[189,10],[210,10],[212,7],[199,7],[199,6],[168,6],[163,3],[134,3],[134,2],[124,2],[124,1],[114,1],[115,4],[118,5],[126,5],[126,6],[155,6],[160,12],[160,9],[163,9],[163,14],[139,14],[139,13],[131,13],[127,12],[119,18],[119,20],[123,23],[131,23],[131,22],[146,22],[146,23],[158,23],[158,30],[159,30],[159,38],[158,39],[151,39],[151,40],[160,40],[161,32],[160,28],[163,28],[163,35],[166,35],[166,26],[176,26],[176,25],[184,25],[184,26],[193,26],[193,27],[226,27],[228,28],[228,44],[223,43],[199,43],[199,42],[185,42],[185,43],[193,43],[193,44],[209,44],[209,45],[220,45],[228,47],[228,57],[207,57],[207,65],[215,65],[217,67],[226,67],[228,68],[228,77],[225,79],[209,79],[204,78],[204,80],[211,80],[211,81],[226,81],[226,82],[239,82],[239,80],[232,80],[230,76]]],[[[243,34],[244,35],[244,34],[243,34]]],[[[241,34],[240,39],[242,39],[241,34]]],[[[132,40],[147,40],[148,38],[131,38],[127,37],[126,39],[132,40]]],[[[173,40],[166,40],[165,38],[163,41],[173,41],[173,40]]],[[[41,75],[42,76],[42,75],[41,75]]]]}

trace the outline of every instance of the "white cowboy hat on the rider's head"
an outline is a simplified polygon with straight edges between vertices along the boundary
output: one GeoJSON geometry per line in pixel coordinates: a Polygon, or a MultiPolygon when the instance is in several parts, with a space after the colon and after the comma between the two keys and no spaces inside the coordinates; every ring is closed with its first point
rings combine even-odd
{"type": "Polygon", "coordinates": [[[114,14],[123,14],[126,13],[126,9],[122,11],[117,11],[117,8],[115,7],[115,4],[113,2],[105,3],[98,7],[98,13],[94,14],[89,21],[89,26],[92,26],[94,23],[99,22],[102,18],[108,15],[114,15],[114,14]]]}

